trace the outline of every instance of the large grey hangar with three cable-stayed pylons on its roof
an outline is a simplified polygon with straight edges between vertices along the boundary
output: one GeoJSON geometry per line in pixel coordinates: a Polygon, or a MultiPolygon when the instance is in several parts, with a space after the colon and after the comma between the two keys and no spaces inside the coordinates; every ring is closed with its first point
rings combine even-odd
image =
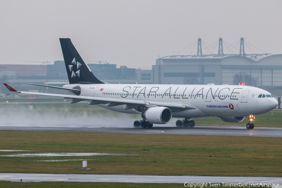
{"type": "Polygon", "coordinates": [[[197,55],[171,55],[152,66],[155,84],[229,84],[245,81],[249,86],[282,86],[282,54],[245,54],[241,38],[240,54],[202,55],[198,39],[197,55]]]}

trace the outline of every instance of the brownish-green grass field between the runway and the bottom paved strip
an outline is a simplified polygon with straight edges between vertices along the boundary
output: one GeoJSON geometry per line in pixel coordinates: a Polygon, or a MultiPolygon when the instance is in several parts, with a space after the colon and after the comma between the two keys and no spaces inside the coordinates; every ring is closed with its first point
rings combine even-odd
{"type": "Polygon", "coordinates": [[[0,172],[282,176],[282,139],[271,137],[0,131],[0,149],[18,153],[118,153],[133,155],[7,157],[0,172]],[[87,159],[91,170],[78,170],[87,159]],[[69,161],[44,161],[69,160],[69,161]]]}

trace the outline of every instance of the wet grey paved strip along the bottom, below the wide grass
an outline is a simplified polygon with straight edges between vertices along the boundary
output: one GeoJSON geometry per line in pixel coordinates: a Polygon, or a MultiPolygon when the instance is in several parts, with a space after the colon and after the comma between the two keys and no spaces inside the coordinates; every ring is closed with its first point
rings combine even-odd
{"type": "Polygon", "coordinates": [[[0,173],[5,181],[76,181],[128,183],[279,183],[281,177],[223,177],[223,176],[158,176],[158,175],[96,175],[96,174],[24,174],[0,173]]]}

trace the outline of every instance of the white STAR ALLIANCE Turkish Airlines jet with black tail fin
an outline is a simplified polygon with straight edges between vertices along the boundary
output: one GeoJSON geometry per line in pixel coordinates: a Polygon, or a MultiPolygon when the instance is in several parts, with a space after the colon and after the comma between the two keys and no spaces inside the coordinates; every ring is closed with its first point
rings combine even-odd
{"type": "MultiPolygon", "coordinates": [[[[74,95],[17,91],[29,95],[64,97],[70,103],[89,101],[89,105],[131,114],[143,118],[134,127],[152,128],[153,123],[166,124],[172,118],[177,127],[194,127],[191,118],[217,116],[225,122],[242,122],[248,116],[248,129],[254,128],[255,115],[274,109],[278,102],[263,89],[245,85],[165,85],[165,84],[105,84],[98,80],[69,38],[60,39],[70,84],[63,87],[74,95]]],[[[32,84],[38,86],[39,84],[32,84]]]]}

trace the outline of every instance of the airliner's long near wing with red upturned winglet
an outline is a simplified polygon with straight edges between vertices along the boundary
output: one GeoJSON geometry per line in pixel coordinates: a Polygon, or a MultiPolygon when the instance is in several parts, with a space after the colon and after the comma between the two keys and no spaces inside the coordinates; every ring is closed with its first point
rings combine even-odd
{"type": "Polygon", "coordinates": [[[88,96],[64,95],[64,94],[54,94],[54,93],[17,91],[13,87],[9,86],[8,84],[6,83],[3,84],[8,88],[9,91],[18,92],[27,95],[69,98],[69,99],[73,99],[71,103],[76,103],[84,100],[91,100],[91,102],[89,102],[88,104],[107,104],[108,107],[126,104],[130,107],[146,105],[148,107],[162,106],[162,107],[168,107],[174,109],[176,108],[179,110],[196,109],[196,107],[185,102],[154,102],[154,101],[133,100],[133,99],[116,99],[116,98],[107,98],[107,97],[88,97],[88,96]]]}

